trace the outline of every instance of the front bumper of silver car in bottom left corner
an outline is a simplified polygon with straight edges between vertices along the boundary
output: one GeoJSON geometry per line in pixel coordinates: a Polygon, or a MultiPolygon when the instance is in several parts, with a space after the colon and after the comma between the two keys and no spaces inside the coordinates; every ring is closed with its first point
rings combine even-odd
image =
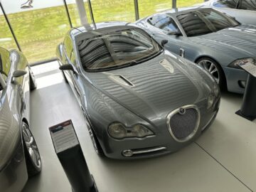
{"type": "Polygon", "coordinates": [[[8,164],[0,171],[1,192],[21,191],[28,180],[26,161],[23,153],[23,146],[20,143],[14,156],[8,164]]]}

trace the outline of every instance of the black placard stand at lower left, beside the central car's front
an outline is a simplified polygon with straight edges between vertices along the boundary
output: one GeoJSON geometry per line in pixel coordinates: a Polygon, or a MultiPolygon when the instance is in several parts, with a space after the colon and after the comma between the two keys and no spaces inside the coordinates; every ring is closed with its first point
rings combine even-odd
{"type": "Polygon", "coordinates": [[[73,192],[98,192],[71,120],[50,127],[49,131],[73,192]]]}

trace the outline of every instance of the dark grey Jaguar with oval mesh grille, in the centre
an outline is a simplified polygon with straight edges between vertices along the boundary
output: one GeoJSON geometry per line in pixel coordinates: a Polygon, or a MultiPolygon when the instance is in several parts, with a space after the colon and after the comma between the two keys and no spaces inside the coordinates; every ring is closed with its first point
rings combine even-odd
{"type": "Polygon", "coordinates": [[[112,159],[177,151],[218,112],[215,80],[134,25],[73,28],[58,46],[57,58],[96,151],[112,159]]]}

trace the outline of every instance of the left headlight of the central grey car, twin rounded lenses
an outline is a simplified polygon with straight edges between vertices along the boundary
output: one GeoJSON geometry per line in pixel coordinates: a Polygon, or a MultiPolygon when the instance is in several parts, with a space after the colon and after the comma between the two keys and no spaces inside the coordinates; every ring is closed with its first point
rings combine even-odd
{"type": "Polygon", "coordinates": [[[136,124],[133,127],[128,128],[124,127],[124,125],[119,122],[114,122],[110,124],[110,126],[108,127],[108,133],[114,139],[124,139],[128,137],[142,138],[149,135],[154,135],[151,130],[144,127],[144,125],[142,124],[136,124]]]}

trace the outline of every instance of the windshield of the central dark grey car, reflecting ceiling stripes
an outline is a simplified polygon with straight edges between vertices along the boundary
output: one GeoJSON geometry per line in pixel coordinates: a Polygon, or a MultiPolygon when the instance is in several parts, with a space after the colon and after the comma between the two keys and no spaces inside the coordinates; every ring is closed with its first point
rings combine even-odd
{"type": "Polygon", "coordinates": [[[82,67],[99,71],[143,62],[160,53],[161,46],[142,29],[129,28],[84,39],[78,50],[82,67]]]}

